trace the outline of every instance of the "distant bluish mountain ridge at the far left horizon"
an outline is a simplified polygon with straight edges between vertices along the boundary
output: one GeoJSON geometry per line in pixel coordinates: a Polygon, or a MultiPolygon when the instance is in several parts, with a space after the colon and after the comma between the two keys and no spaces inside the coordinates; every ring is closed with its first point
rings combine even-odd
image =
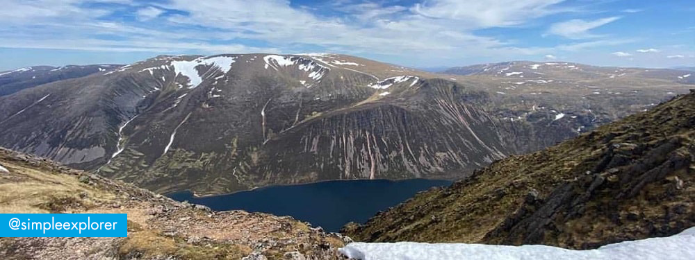
{"type": "Polygon", "coordinates": [[[115,69],[122,65],[97,64],[87,66],[67,65],[64,67],[34,66],[0,72],[0,96],[13,94],[22,89],[69,78],[81,78],[92,73],[115,69]]]}

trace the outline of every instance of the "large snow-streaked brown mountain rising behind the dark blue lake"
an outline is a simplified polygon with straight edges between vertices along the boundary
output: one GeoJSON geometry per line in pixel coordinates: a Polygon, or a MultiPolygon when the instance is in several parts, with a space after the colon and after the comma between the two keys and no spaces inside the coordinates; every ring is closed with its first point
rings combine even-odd
{"type": "Polygon", "coordinates": [[[532,82],[325,53],[162,55],[0,97],[0,146],[162,193],[459,179],[692,87],[652,76],[532,82]]]}

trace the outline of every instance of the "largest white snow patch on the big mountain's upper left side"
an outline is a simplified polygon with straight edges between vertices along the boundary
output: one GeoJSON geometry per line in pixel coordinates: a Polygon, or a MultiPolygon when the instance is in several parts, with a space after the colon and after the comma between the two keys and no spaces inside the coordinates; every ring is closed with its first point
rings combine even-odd
{"type": "MultiPolygon", "coordinates": [[[[195,87],[198,87],[198,85],[203,82],[203,78],[200,77],[196,67],[199,65],[212,66],[213,68],[219,68],[222,72],[227,73],[231,70],[231,64],[234,63],[234,60],[236,60],[236,57],[202,57],[191,61],[173,60],[171,65],[174,67],[174,72],[177,73],[177,75],[181,74],[190,80],[188,88],[195,89],[195,87]]],[[[150,73],[152,73],[152,71],[150,71],[150,73]]]]}

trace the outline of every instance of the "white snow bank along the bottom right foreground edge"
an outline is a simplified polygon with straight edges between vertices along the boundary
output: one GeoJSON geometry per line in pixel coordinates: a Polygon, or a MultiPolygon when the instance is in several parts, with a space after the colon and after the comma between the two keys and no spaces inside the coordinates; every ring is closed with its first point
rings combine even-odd
{"type": "Polygon", "coordinates": [[[695,259],[695,227],[674,236],[625,241],[595,250],[569,250],[548,245],[400,242],[350,243],[340,252],[359,260],[690,260],[695,259]]]}

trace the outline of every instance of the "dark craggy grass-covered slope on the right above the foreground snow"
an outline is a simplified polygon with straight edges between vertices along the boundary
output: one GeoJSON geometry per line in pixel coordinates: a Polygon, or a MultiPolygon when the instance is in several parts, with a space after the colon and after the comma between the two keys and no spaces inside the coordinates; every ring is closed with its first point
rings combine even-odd
{"type": "Polygon", "coordinates": [[[695,225],[695,90],[431,189],[345,233],[357,241],[588,249],[695,225]]]}

